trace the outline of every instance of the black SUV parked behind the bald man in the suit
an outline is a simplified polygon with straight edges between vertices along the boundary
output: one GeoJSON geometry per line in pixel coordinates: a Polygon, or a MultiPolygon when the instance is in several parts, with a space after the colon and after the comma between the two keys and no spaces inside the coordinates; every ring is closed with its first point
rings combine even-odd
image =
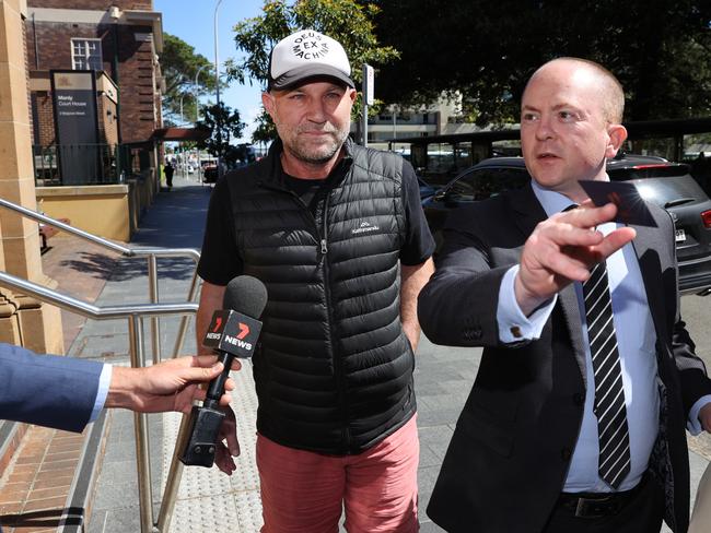
{"type": "MultiPolygon", "coordinates": [[[[708,293],[711,287],[711,200],[687,165],[662,157],[622,154],[607,163],[613,181],[631,181],[640,196],[667,210],[676,224],[679,289],[708,293]]],[[[466,169],[422,201],[438,245],[448,212],[531,181],[523,157],[492,157],[466,169]]]]}

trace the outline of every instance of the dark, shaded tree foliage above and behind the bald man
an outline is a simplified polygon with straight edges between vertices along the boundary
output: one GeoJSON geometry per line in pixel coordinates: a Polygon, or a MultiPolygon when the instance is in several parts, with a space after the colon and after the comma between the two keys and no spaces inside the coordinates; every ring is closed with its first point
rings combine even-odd
{"type": "Polygon", "coordinates": [[[401,52],[377,79],[388,103],[458,92],[478,123],[517,121],[533,71],[555,57],[598,61],[620,80],[627,120],[711,114],[708,0],[362,0],[401,52]]]}

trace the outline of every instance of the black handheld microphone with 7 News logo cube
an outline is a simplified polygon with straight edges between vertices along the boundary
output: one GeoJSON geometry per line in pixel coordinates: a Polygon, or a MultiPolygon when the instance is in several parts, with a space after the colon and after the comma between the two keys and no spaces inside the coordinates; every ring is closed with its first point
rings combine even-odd
{"type": "Polygon", "coordinates": [[[234,357],[249,358],[255,351],[267,305],[267,287],[256,277],[241,275],[232,280],[224,292],[223,309],[214,311],[202,344],[218,353],[218,360],[224,365],[222,372],[210,381],[202,406],[195,405],[188,422],[189,435],[180,462],[185,465],[211,467],[214,449],[224,413],[220,410],[220,398],[224,394],[224,382],[230,376],[234,357]]]}

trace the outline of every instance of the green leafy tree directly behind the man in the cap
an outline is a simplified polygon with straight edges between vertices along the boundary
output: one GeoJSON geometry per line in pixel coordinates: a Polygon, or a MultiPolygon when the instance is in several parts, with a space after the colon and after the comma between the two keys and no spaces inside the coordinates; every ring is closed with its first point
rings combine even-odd
{"type": "MultiPolygon", "coordinates": [[[[351,78],[362,79],[362,64],[385,64],[398,57],[391,46],[381,46],[374,34],[373,17],[380,9],[356,0],[266,0],[263,14],[234,26],[237,50],[246,54],[240,61],[230,61],[228,71],[240,83],[255,81],[266,88],[269,51],[282,38],[298,29],[315,29],[338,40],[351,63],[351,78]]],[[[360,116],[359,104],[353,109],[360,116]]],[[[254,142],[276,139],[277,133],[266,111],[258,118],[254,142]]]]}

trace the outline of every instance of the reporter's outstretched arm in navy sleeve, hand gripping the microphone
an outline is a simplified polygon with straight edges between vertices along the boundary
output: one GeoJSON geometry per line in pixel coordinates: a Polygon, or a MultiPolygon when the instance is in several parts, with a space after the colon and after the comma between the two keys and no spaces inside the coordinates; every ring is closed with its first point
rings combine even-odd
{"type": "MultiPolygon", "coordinates": [[[[147,368],[125,368],[95,360],[35,355],[0,343],[0,419],[81,431],[103,407],[142,413],[189,412],[193,400],[205,399],[199,383],[222,371],[222,364],[215,362],[217,357],[205,355],[170,359],[147,368]]],[[[225,389],[234,389],[232,379],[225,389]]],[[[224,394],[220,403],[230,403],[230,395],[224,394]]]]}

